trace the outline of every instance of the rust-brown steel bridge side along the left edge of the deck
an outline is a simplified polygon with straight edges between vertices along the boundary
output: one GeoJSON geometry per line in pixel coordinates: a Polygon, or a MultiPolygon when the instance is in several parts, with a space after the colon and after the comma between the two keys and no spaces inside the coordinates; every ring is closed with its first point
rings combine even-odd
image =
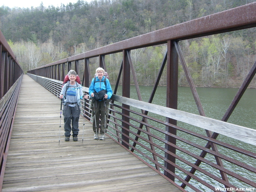
{"type": "Polygon", "coordinates": [[[0,189],[23,70],[0,31],[0,189]]]}

